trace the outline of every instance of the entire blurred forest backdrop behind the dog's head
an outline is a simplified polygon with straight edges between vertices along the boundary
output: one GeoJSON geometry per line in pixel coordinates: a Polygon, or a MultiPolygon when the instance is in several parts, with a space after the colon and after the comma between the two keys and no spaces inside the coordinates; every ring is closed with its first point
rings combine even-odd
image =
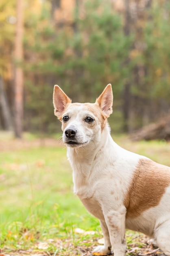
{"type": "Polygon", "coordinates": [[[113,132],[170,110],[168,0],[1,0],[0,130],[60,131],[52,92],[94,102],[112,84],[113,132]]]}

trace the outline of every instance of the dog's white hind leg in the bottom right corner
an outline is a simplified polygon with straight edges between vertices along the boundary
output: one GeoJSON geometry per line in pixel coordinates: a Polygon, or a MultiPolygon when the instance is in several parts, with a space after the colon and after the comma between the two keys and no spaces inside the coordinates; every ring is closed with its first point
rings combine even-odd
{"type": "Polygon", "coordinates": [[[163,222],[155,230],[155,239],[163,253],[170,255],[170,220],[163,222]]]}

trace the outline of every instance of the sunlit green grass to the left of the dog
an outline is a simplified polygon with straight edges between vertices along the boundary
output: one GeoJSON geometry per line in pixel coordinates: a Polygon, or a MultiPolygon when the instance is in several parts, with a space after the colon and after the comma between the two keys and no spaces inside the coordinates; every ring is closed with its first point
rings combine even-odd
{"type": "Polygon", "coordinates": [[[61,146],[1,152],[0,184],[1,248],[74,238],[77,227],[99,229],[72,192],[72,170],[61,146]]]}

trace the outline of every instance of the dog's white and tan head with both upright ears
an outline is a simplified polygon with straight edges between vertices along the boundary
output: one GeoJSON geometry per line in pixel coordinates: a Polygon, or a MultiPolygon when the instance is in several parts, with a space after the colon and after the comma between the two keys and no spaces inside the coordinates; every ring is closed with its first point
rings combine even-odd
{"type": "Polygon", "coordinates": [[[71,99],[54,85],[54,115],[62,122],[63,142],[67,146],[81,147],[97,142],[107,117],[112,113],[113,94],[111,84],[95,103],[72,103],[71,99]]]}

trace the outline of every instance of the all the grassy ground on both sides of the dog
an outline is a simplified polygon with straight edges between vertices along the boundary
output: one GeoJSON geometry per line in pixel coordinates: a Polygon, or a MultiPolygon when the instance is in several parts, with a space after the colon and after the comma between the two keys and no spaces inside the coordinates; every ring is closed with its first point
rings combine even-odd
{"type": "MultiPolygon", "coordinates": [[[[35,139],[27,136],[25,141],[35,139]]],[[[114,139],[128,150],[170,166],[166,141],[131,142],[125,135],[114,139]]],[[[17,141],[7,136],[1,141],[12,147],[0,153],[0,252],[18,255],[24,249],[32,254],[42,250],[44,255],[89,255],[88,247],[102,234],[98,220],[72,192],[66,149],[57,141],[56,146],[20,149],[13,149],[17,141]],[[95,234],[77,234],[76,228],[95,234]]],[[[127,242],[131,244],[135,236],[128,232],[127,242]]]]}

